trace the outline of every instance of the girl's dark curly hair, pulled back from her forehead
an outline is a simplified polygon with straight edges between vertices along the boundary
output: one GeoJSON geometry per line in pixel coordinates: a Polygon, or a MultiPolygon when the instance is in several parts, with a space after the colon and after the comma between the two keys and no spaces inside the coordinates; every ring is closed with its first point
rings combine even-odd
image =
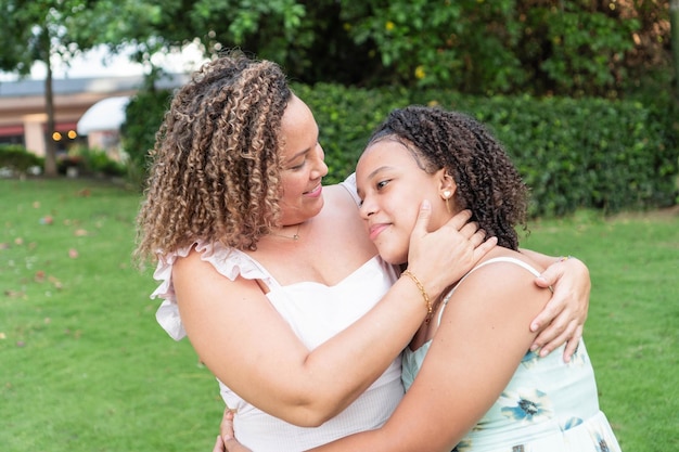
{"type": "Polygon", "coordinates": [[[458,207],[472,210],[472,219],[499,245],[518,248],[515,227],[526,230],[528,189],[483,124],[462,113],[415,105],[393,111],[369,145],[383,139],[401,142],[428,173],[446,168],[458,185],[458,207]]]}

